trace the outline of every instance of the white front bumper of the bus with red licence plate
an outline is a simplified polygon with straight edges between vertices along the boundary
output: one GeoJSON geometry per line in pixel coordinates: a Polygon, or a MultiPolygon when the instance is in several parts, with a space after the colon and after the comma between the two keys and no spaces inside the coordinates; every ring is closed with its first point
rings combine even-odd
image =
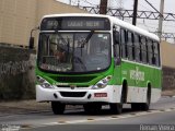
{"type": "Polygon", "coordinates": [[[107,85],[105,88],[91,90],[90,87],[55,87],[44,88],[36,85],[37,102],[61,102],[66,104],[85,103],[119,103],[121,86],[107,85]],[[96,95],[97,94],[97,95],[96,95]]]}

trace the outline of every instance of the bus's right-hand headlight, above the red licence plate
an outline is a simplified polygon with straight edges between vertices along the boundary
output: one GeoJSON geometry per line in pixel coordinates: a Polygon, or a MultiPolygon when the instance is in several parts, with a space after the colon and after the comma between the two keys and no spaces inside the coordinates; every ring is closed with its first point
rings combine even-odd
{"type": "Polygon", "coordinates": [[[100,90],[106,87],[108,84],[108,81],[112,79],[112,75],[108,75],[104,78],[103,80],[98,81],[94,86],[92,86],[93,90],[100,90]]]}

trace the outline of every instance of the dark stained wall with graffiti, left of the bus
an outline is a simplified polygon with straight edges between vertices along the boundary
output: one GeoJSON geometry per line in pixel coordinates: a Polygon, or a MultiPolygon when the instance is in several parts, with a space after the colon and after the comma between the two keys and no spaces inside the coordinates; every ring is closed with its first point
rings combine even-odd
{"type": "Polygon", "coordinates": [[[0,47],[0,100],[35,97],[35,51],[0,47]]]}

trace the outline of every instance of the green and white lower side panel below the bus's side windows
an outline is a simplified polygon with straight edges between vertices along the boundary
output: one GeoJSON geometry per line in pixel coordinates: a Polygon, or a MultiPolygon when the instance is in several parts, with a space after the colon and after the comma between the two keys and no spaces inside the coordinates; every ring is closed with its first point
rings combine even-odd
{"type": "Polygon", "coordinates": [[[148,83],[151,84],[151,102],[156,102],[161,95],[161,71],[154,67],[122,61],[121,79],[127,80],[127,103],[145,103],[148,83]]]}

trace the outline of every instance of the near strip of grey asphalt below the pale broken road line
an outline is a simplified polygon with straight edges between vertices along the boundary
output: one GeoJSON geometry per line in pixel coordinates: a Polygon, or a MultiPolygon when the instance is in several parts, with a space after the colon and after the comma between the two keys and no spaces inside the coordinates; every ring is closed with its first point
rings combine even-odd
{"type": "Polygon", "coordinates": [[[23,131],[175,131],[175,110],[118,118],[101,118],[74,123],[55,123],[23,131]]]}

